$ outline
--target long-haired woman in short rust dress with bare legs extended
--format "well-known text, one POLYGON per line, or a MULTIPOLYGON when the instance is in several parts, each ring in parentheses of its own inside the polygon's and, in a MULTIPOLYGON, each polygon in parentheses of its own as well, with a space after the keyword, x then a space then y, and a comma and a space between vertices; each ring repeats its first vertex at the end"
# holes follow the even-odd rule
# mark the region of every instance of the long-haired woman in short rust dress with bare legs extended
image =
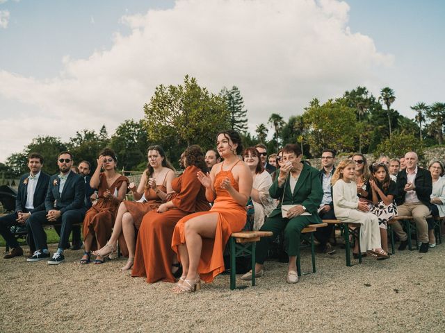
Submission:
POLYGON ((157 209, 162 201, 172 191, 172 179, 175 178, 175 169, 165 157, 161 146, 149 146, 147 150, 148 166, 144 171, 138 189, 133 185, 130 190, 135 200, 145 196, 145 202, 124 200, 119 206, 113 234, 111 238, 95 255, 104 257, 116 250, 119 240, 120 250, 124 257, 128 256, 127 264, 122 267, 125 271, 133 266, 134 248, 136 243, 135 228, 139 229, 143 216, 150 210, 157 209))

